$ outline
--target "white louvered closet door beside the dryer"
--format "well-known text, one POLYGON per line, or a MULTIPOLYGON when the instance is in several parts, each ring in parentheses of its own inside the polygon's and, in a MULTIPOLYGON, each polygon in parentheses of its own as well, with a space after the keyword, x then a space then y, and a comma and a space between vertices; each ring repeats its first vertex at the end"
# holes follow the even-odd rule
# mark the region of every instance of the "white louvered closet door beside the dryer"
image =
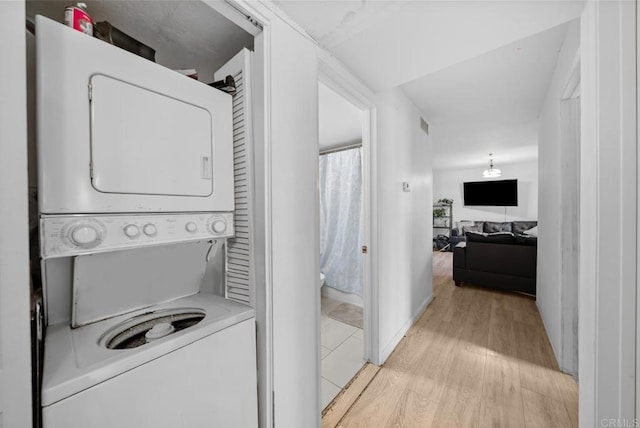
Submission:
POLYGON ((231 75, 236 82, 233 95, 236 236, 227 241, 225 294, 229 299, 255 307, 251 55, 251 51, 243 49, 215 73, 215 79, 231 75))

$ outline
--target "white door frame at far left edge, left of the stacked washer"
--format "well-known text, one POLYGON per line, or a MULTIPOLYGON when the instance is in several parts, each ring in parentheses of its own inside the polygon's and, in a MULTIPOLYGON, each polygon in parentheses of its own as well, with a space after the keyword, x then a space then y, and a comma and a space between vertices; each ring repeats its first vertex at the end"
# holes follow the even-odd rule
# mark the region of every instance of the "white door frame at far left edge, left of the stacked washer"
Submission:
POLYGON ((0 426, 31 427, 25 2, 0 2, 0 426))

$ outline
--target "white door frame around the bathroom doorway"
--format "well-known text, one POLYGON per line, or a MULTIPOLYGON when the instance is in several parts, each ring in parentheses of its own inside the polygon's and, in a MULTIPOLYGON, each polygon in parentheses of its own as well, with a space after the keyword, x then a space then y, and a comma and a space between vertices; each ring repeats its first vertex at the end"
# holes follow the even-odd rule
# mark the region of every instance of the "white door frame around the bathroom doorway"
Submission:
MULTIPOLYGON (((373 94, 346 71, 324 49, 318 48, 318 80, 362 111, 362 298, 364 301, 364 358, 380 364, 378 343, 377 185, 376 185, 376 108, 373 94)), ((318 254, 318 257, 320 255, 318 254)))

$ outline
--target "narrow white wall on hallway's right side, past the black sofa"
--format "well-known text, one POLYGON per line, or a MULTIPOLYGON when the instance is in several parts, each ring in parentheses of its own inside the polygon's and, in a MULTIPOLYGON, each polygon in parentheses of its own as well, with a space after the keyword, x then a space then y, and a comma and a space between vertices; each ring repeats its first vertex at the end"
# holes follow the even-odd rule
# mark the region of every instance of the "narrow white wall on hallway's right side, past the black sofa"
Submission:
MULTIPOLYGON (((580 46, 580 22, 569 24, 556 70, 540 114, 539 216, 537 305, 547 329, 551 346, 559 356, 561 349, 561 275, 562 252, 562 180, 561 98, 580 46)), ((576 189, 577 191, 577 189, 576 189)), ((576 219, 577 220, 577 219, 576 219)))

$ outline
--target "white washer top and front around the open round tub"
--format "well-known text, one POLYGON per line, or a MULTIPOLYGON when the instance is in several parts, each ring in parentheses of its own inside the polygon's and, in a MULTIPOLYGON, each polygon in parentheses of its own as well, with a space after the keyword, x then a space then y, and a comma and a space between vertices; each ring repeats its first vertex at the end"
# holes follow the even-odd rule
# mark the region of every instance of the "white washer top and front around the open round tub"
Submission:
POLYGON ((78 329, 50 327, 45 348, 45 428, 257 427, 253 309, 195 295, 154 310, 206 313, 195 326, 134 349, 100 337, 136 313, 78 329))

